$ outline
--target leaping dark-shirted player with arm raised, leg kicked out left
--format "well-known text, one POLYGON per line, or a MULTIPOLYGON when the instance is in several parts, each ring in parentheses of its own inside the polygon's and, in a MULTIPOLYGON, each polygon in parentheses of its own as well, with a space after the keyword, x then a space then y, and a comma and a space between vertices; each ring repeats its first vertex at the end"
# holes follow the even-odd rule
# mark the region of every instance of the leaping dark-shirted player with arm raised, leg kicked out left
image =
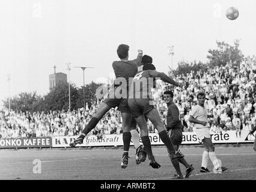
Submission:
MULTIPOLYGON (((128 61, 129 58, 129 46, 126 44, 120 44, 117 49, 117 55, 120 58, 120 61, 114 61, 112 67, 115 72, 115 77, 117 80, 124 78, 126 83, 121 83, 121 85, 115 85, 114 89, 110 89, 108 94, 105 96, 105 100, 100 104, 99 109, 94 114, 93 118, 86 125, 82 134, 76 138, 73 142, 70 143, 71 147, 75 147, 77 144, 81 144, 84 141, 85 136, 96 127, 100 119, 111 109, 112 107, 118 107, 118 110, 121 112, 122 118, 122 128, 123 128, 123 143, 124 143, 124 152, 121 161, 121 168, 126 168, 128 164, 128 152, 131 141, 131 119, 132 115, 130 114, 129 106, 127 104, 127 98, 117 97, 117 94, 120 94, 122 90, 129 89, 129 77, 134 77, 138 71, 138 67, 141 65, 142 59, 142 50, 138 50, 138 56, 132 61, 128 61), (112 98, 112 96, 114 96, 112 98)), ((128 93, 128 91, 127 91, 128 93)), ((122 95, 123 96, 123 95, 122 95)), ((127 95, 124 95, 127 97, 127 95)), ((136 137, 139 139, 139 137, 136 137)), ((135 139, 136 140, 136 139, 135 139)), ((139 141, 138 141, 139 142, 139 141)), ((136 150, 138 152, 138 150, 136 150)), ((137 157, 137 155, 136 155, 137 157)))

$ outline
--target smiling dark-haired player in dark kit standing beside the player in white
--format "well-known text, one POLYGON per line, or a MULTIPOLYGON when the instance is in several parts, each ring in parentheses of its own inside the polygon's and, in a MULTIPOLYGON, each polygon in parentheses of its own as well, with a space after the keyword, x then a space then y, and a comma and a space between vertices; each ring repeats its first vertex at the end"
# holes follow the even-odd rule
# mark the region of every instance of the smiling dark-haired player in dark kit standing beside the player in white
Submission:
MULTIPOLYGON (((182 142, 181 126, 183 125, 181 124, 180 121, 180 111, 178 110, 178 107, 174 104, 173 97, 174 95, 171 91, 163 92, 163 100, 165 101, 168 107, 166 116, 166 128, 175 150, 178 151, 178 147, 181 145, 182 142)), ((185 178, 188 178, 191 175, 192 170, 194 170, 194 167, 192 166, 192 164, 189 165, 187 161, 184 159, 184 157, 180 159, 172 159, 171 155, 169 154, 169 158, 171 159, 172 165, 174 166, 177 172, 177 174, 174 175, 173 179, 183 179, 183 175, 180 170, 180 163, 186 167, 185 178)))

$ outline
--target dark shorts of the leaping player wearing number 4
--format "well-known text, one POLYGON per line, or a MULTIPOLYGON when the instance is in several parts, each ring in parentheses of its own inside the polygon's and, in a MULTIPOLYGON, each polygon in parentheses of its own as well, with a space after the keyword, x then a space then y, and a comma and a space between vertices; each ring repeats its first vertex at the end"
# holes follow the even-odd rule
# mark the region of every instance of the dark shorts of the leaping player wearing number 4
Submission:
POLYGON ((130 112, 132 112, 132 115, 135 117, 145 115, 155 108, 153 100, 150 100, 149 98, 129 98, 128 105, 130 112))

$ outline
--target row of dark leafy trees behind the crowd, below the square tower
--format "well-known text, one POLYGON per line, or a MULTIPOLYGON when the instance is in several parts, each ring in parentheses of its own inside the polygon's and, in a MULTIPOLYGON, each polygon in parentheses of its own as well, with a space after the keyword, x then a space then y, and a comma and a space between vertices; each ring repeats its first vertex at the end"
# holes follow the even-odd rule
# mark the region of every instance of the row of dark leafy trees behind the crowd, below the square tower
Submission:
MULTIPOLYGON (((88 102, 89 107, 96 98, 96 89, 99 84, 91 82, 85 85, 85 103, 88 102)), ((8 109, 8 98, 3 100, 5 108, 8 109)), ((84 107, 84 91, 83 86, 78 89, 75 84, 70 84, 70 107, 71 110, 84 107)), ((49 110, 68 110, 69 109, 69 84, 67 82, 58 82, 49 93, 41 97, 36 92, 22 92, 11 98, 11 110, 41 112, 49 110)))

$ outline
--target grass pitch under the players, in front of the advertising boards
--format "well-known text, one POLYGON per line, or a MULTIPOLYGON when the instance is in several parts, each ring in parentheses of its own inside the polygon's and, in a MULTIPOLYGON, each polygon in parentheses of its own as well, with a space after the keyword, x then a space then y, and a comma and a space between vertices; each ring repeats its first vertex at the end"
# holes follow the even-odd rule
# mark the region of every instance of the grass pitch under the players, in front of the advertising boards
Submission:
MULTIPOLYGON (((240 147, 215 145, 217 158, 228 170, 222 174, 201 173, 201 146, 181 146, 187 163, 193 164, 194 171, 183 180, 255 180, 256 152, 252 145, 240 147)), ((161 165, 159 169, 149 166, 148 159, 139 165, 135 163, 135 149, 130 146, 129 164, 121 169, 122 148, 67 148, 67 149, 2 149, 0 150, 0 179, 26 180, 169 180, 175 174, 165 146, 153 146, 153 154, 161 165), (41 161, 41 173, 34 173, 34 160, 41 161)), ((38 161, 37 161, 38 162, 38 161)), ((181 171, 185 175, 185 168, 181 171)))

